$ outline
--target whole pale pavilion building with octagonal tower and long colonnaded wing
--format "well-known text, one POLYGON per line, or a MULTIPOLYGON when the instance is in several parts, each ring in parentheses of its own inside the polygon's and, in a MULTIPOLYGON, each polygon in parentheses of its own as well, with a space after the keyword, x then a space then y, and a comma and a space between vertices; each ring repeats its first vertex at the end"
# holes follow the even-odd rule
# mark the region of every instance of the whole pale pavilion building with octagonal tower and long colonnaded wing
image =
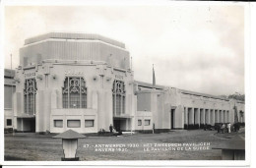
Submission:
POLYGON ((25 40, 5 70, 5 128, 79 133, 198 129, 244 122, 244 102, 134 81, 125 44, 101 35, 50 32, 25 40), (13 93, 12 93, 13 92, 13 93), (236 111, 236 112, 235 112, 236 111))

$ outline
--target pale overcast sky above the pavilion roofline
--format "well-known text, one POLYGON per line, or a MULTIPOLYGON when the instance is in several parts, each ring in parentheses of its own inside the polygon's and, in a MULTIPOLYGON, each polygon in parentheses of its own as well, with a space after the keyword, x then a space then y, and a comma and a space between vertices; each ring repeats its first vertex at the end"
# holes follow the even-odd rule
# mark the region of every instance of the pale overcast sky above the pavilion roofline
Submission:
POLYGON ((98 33, 126 44, 135 80, 210 93, 244 93, 242 6, 6 7, 5 67, 19 65, 28 37, 49 31, 98 33))

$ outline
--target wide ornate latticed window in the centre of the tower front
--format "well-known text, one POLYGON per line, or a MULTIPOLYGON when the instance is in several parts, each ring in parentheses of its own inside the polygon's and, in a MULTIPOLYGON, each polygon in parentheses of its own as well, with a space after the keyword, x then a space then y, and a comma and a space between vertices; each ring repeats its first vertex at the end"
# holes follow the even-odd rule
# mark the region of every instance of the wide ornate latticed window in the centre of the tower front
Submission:
POLYGON ((63 108, 87 108, 87 87, 83 78, 65 79, 62 102, 63 108))

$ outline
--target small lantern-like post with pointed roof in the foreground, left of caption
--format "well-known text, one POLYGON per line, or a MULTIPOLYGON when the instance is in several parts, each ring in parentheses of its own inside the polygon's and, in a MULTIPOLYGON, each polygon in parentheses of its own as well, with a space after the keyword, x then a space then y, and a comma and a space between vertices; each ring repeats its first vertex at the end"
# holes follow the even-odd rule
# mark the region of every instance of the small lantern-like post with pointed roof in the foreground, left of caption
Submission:
POLYGON ((86 136, 81 135, 73 130, 68 130, 60 135, 53 137, 53 139, 62 139, 64 157, 61 157, 61 161, 79 161, 79 157, 76 157, 78 139, 85 138, 86 136))

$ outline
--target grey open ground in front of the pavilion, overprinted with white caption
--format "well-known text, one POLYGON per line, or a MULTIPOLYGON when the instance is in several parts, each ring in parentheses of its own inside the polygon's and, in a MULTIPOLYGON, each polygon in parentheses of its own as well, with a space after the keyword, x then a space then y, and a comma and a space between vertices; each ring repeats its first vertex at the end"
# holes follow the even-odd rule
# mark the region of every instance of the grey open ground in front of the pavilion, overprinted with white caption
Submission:
MULTIPOLYGON (((78 143, 77 156, 85 160, 220 160, 212 149, 232 136, 216 131, 172 131, 161 134, 126 134, 120 137, 87 137, 78 143), (196 144, 196 145, 194 145, 196 144), (181 147, 180 147, 181 146, 181 147), (189 146, 193 146, 189 149, 189 146), (182 148, 183 147, 183 148, 182 148)), ((5 135, 5 160, 60 161, 62 141, 32 133, 5 135)))

